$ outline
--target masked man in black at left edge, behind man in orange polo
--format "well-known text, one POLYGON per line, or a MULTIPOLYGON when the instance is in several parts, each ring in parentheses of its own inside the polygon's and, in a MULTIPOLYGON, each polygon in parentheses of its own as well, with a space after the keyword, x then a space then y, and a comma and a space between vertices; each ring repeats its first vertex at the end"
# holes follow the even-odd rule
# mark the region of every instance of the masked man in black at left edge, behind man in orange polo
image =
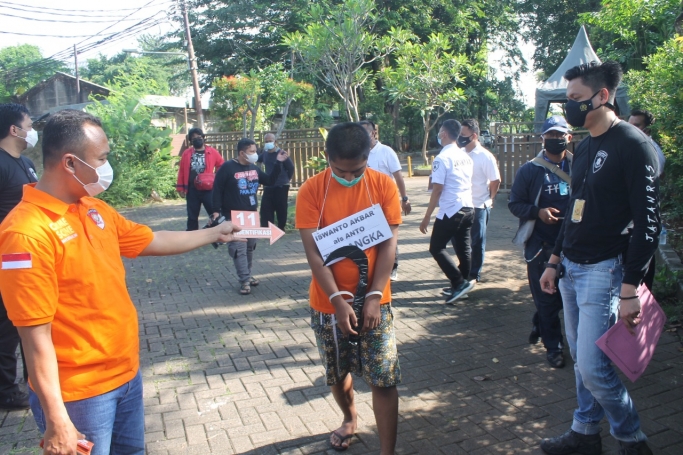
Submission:
MULTIPOLYGON (((21 156, 38 142, 28 109, 21 104, 0 104, 0 223, 21 201, 24 185, 38 181, 33 162, 21 156)), ((0 227, 0 229, 2 229, 0 227)), ((28 409, 28 393, 17 384, 19 333, 7 318, 0 296, 0 409, 28 409)), ((27 373, 24 366, 24 378, 27 373)))

